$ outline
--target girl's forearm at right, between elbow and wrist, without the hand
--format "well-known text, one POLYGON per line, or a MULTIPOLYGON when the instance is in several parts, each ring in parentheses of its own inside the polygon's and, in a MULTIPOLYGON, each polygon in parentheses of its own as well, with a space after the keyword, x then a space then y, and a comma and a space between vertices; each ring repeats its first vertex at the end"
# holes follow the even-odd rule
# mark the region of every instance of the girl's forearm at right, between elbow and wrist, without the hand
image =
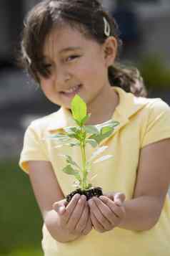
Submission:
POLYGON ((148 230, 154 227, 161 212, 161 203, 154 196, 140 196, 124 202, 126 217, 119 227, 148 230))

